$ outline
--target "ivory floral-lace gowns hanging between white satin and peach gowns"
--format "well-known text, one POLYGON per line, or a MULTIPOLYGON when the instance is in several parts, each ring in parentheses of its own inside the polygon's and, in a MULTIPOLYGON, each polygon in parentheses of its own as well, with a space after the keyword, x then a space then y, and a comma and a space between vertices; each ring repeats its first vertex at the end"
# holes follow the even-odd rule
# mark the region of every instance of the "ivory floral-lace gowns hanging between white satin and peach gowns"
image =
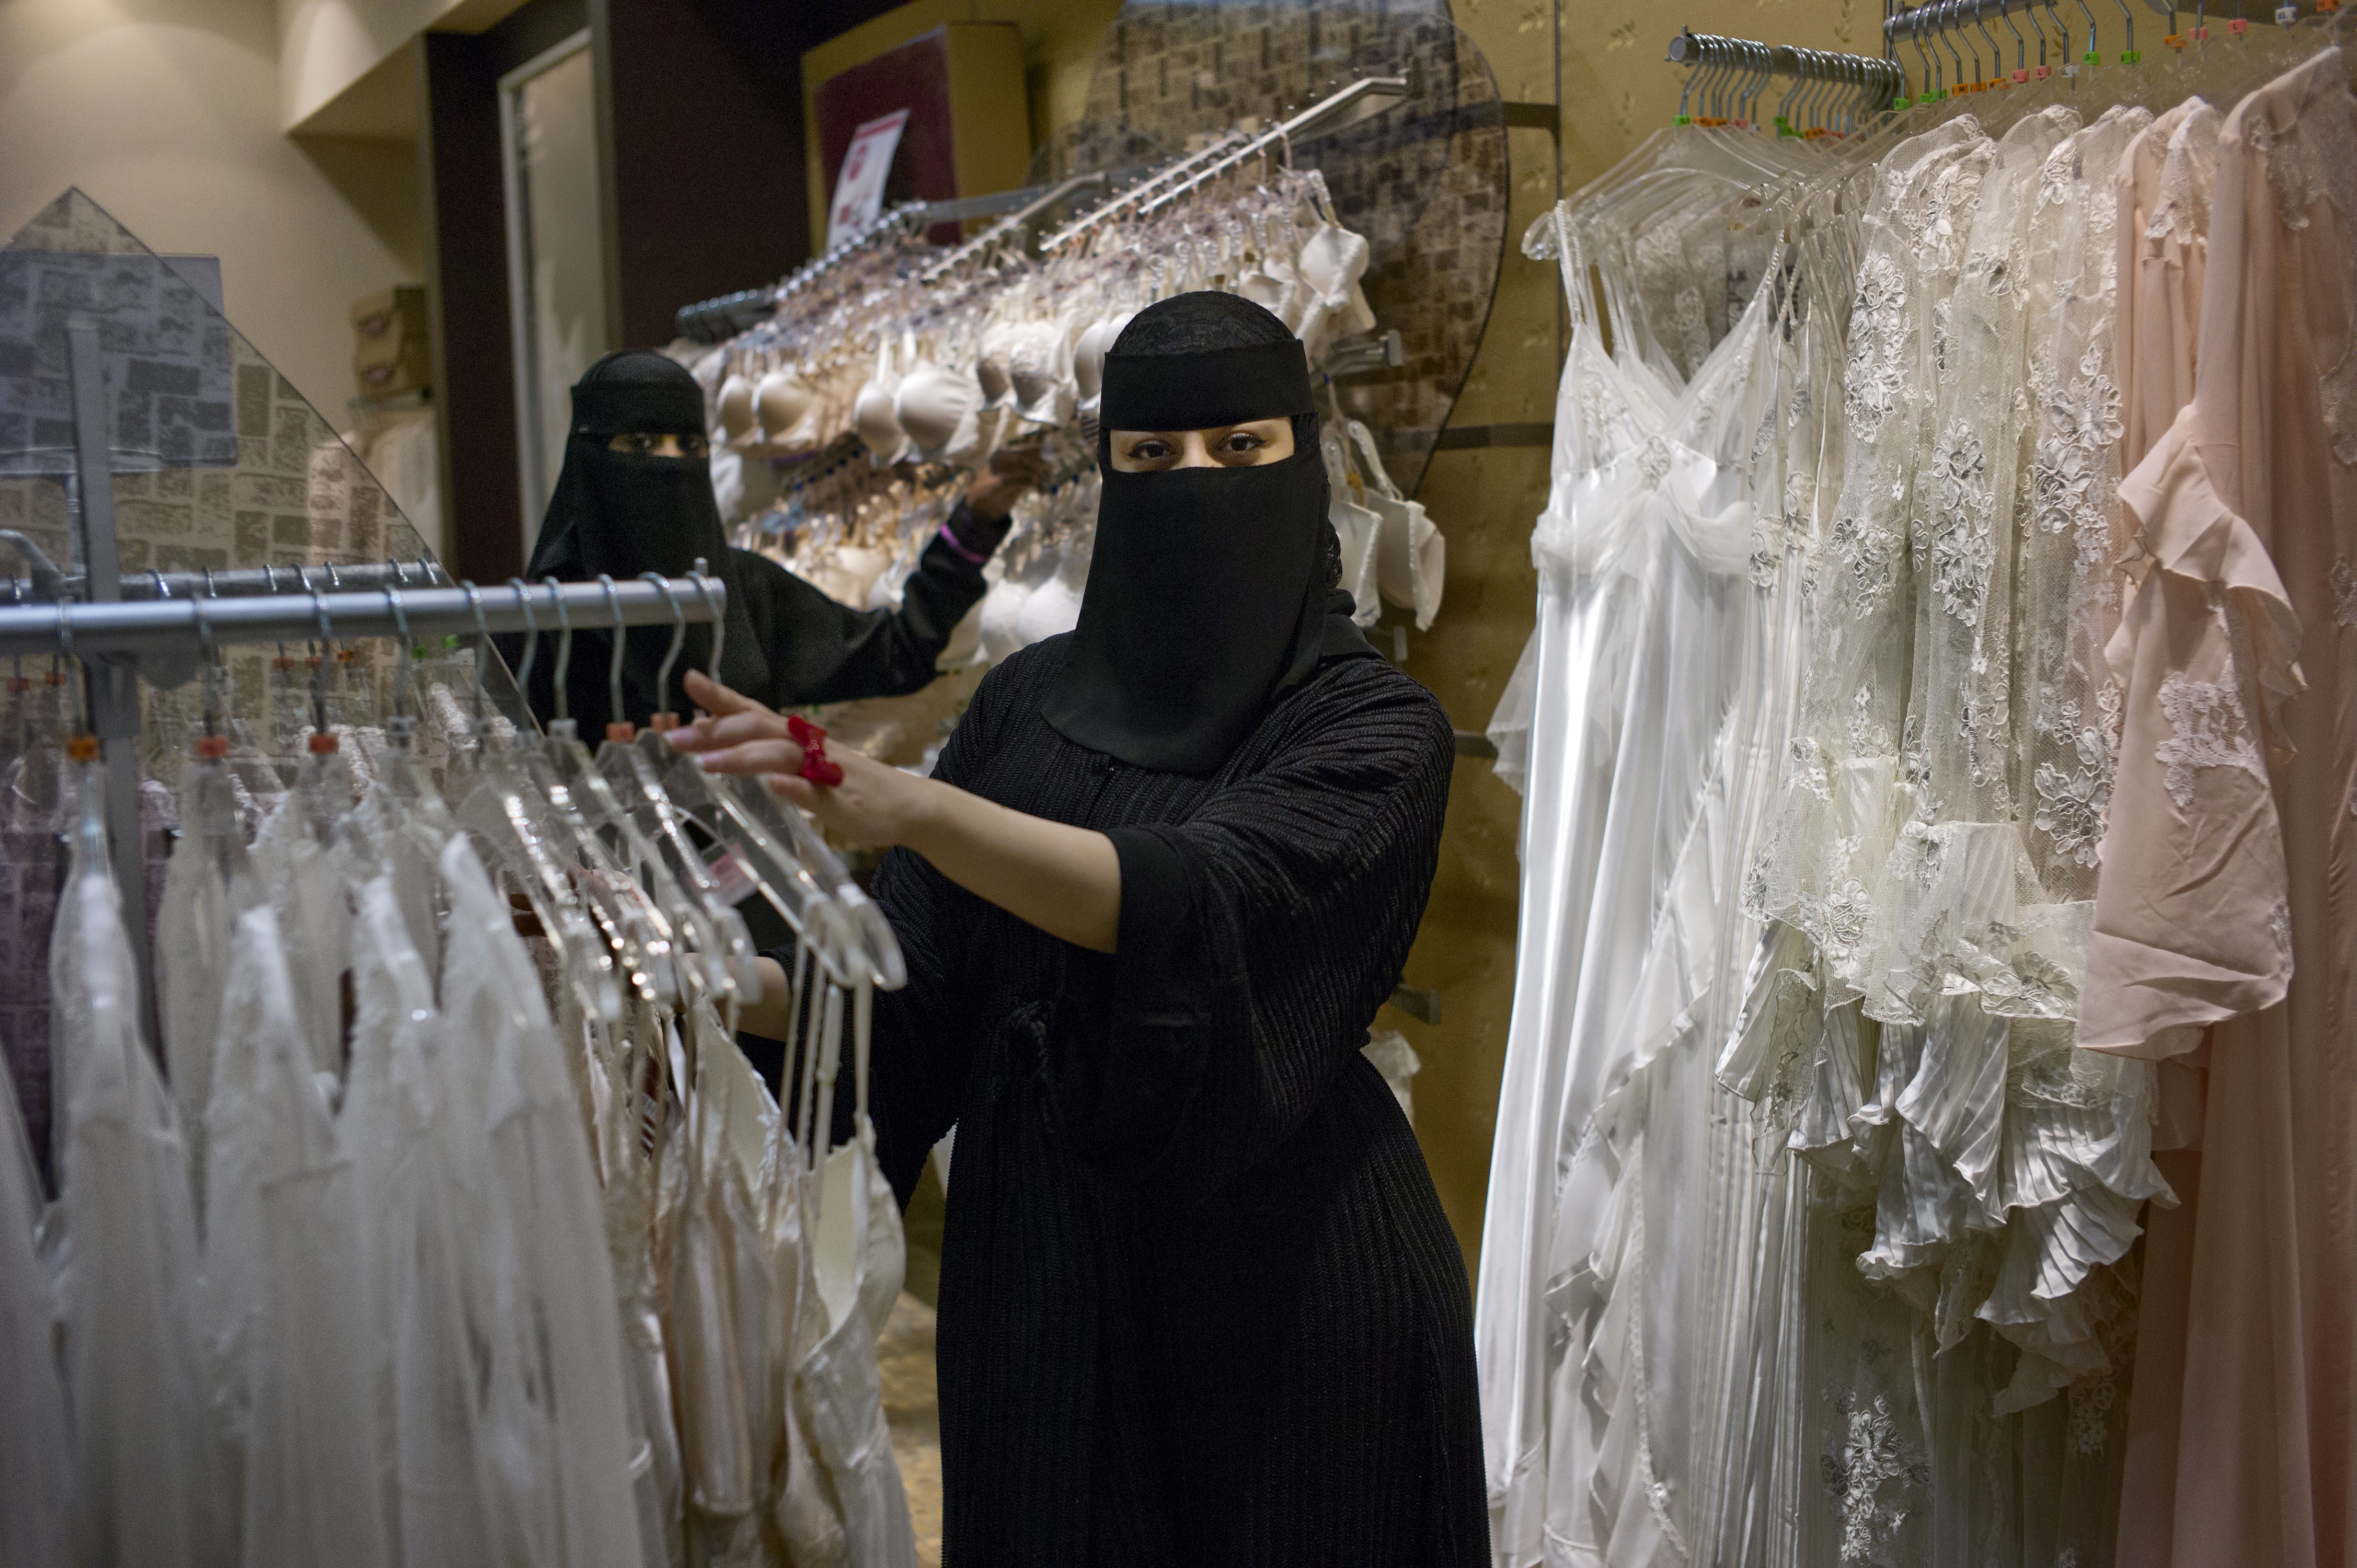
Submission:
POLYGON ((2150 1080, 2069 1030, 2114 745, 2110 170, 2140 123, 1989 144, 1959 118, 1893 149, 1864 215, 1843 493, 1751 889, 1787 924, 1721 1063, 1805 1158, 1754 1309, 1789 1422, 1758 1502, 1794 1561, 2110 1554, 2114 1264, 2166 1188, 2150 1080))

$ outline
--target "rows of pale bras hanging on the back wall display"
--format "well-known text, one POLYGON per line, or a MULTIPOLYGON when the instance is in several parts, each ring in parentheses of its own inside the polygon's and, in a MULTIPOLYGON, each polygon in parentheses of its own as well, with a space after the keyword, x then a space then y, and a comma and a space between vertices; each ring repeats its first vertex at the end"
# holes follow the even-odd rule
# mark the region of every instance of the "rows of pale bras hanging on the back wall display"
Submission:
MULTIPOLYGON (((1384 80, 1327 104, 1346 111, 1374 87, 1384 80)), ((1320 373, 1376 332, 1360 290, 1367 241, 1315 170, 1282 163, 1325 108, 1285 130, 1228 132, 1049 233, 1039 257, 1028 224, 1044 200, 950 252, 889 217, 877 231, 893 243, 813 264, 780 285, 768 321, 686 349, 733 542, 856 608, 898 606, 957 505, 957 474, 1002 448, 1039 450, 1049 481, 1016 505, 985 566, 990 594, 943 667, 1072 630, 1096 519, 1103 358, 1141 307, 1202 288, 1244 295, 1294 328, 1320 373)), ((1332 382, 1320 384, 1332 401, 1332 382)), ((1329 413, 1332 514, 1358 618, 1374 625, 1388 601, 1426 630, 1445 540, 1391 483, 1374 434, 1329 413)))

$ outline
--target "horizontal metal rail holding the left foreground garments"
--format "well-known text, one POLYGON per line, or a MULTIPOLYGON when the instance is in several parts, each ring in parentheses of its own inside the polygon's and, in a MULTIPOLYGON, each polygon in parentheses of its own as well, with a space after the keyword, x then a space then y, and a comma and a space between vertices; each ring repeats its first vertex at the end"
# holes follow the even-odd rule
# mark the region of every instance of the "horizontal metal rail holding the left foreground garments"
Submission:
POLYGON ((0 608, 0 658, 68 653, 193 667, 207 644, 599 632, 709 625, 726 613, 728 589, 719 578, 26 604, 0 608))

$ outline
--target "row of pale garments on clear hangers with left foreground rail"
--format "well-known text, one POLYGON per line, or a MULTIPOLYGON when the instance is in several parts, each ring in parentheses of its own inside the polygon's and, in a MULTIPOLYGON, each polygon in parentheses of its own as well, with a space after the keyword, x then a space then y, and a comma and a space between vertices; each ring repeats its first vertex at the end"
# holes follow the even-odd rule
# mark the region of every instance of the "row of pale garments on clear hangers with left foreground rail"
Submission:
POLYGON ((177 785, 144 785, 160 889, 113 875, 68 681, 0 757, 68 842, 54 924, 12 931, 47 948, 57 1200, 9 1094, 0 1559, 915 1561, 874 1365, 898 1210, 870 1141, 813 1132, 846 1033, 865 1127, 898 948, 667 719, 589 752, 488 684, 493 632, 566 660, 599 625, 618 667, 625 627, 667 625, 669 663, 691 620, 719 630, 712 578, 0 611, 0 653, 200 672, 177 785), (304 632, 278 773, 226 644, 304 632), (160 905, 153 986, 125 896, 160 905), (750 896, 801 938, 785 1108, 733 1042, 750 896))

